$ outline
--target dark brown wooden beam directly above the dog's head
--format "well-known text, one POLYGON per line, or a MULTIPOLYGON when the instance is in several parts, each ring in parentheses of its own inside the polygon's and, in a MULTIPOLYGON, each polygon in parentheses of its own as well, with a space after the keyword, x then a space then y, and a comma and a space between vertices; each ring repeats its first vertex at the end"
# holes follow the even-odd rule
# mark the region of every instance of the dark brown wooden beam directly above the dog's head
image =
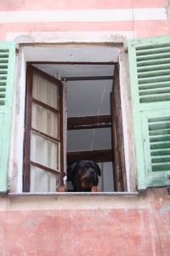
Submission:
POLYGON ((111 149, 79 151, 67 153, 67 164, 77 162, 78 160, 94 160, 95 162, 111 162, 113 161, 111 149))

